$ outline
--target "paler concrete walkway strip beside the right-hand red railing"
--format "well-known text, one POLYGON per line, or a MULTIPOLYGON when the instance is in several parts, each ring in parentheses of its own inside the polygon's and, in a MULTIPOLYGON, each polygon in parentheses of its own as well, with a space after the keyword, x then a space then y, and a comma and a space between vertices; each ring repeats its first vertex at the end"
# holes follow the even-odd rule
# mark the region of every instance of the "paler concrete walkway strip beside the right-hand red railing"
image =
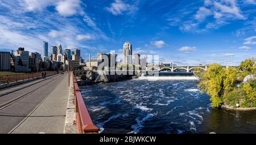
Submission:
POLYGON ((9 133, 63 134, 69 97, 68 75, 9 133))

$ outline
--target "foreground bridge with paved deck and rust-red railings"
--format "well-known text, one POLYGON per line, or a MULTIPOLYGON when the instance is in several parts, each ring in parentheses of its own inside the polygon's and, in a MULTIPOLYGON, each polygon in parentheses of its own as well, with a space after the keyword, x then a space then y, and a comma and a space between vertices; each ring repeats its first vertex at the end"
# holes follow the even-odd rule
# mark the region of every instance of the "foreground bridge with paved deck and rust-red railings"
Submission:
MULTIPOLYGON (((14 79, 24 83, 0 89, 0 134, 98 133, 73 73, 35 76, 30 82, 14 79)), ((7 84, 13 81, 2 78, 7 84)))

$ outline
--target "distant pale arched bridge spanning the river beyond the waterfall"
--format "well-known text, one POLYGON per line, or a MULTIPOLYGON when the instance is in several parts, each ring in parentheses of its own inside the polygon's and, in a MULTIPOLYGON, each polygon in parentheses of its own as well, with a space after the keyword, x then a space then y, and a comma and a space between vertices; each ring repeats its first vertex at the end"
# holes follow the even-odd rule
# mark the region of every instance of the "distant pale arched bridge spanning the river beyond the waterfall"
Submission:
POLYGON ((190 72, 194 69, 202 69, 204 71, 207 71, 208 66, 160 66, 160 67, 146 67, 146 71, 171 71, 175 72, 177 70, 184 70, 187 72, 190 72))

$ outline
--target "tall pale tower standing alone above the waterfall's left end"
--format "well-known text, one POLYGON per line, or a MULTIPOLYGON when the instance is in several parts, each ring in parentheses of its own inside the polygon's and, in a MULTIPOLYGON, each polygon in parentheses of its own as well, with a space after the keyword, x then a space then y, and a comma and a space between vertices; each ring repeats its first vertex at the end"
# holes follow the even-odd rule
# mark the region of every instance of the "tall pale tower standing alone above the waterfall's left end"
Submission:
POLYGON ((133 65, 133 46, 130 42, 123 44, 123 63, 133 65))

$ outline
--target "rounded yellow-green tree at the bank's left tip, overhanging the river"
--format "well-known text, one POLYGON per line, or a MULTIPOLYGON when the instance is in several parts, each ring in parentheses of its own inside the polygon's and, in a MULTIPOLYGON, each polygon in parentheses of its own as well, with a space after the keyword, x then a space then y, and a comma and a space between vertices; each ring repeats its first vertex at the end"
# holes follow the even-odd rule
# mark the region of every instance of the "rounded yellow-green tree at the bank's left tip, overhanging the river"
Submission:
POLYGON ((224 93, 224 79, 225 70, 221 65, 214 63, 208 67, 199 84, 201 92, 210 96, 213 107, 220 108, 223 103, 221 97, 224 93))

